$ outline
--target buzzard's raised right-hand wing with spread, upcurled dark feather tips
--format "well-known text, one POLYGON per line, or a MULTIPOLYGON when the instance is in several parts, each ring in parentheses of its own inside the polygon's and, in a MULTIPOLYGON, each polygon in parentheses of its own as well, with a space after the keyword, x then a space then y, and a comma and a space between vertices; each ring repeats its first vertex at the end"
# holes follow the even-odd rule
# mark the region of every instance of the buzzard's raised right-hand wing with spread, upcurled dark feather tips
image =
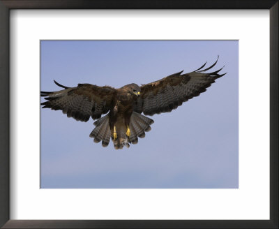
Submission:
POLYGON ((217 61, 209 68, 203 69, 206 65, 205 63, 191 73, 181 74, 183 72, 181 71, 164 77, 162 80, 142 85, 140 98, 137 99, 134 105, 135 112, 144 112, 146 115, 170 112, 190 98, 199 96, 216 79, 225 75, 218 74, 223 68, 211 73, 205 73, 213 68, 217 61))

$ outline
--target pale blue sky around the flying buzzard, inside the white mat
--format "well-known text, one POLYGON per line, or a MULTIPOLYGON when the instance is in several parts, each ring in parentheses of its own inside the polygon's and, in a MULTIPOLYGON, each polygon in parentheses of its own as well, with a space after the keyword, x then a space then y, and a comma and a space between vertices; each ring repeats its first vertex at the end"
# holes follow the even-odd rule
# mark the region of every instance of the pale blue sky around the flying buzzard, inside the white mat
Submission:
POLYGON ((41 90, 60 90, 53 80, 68 87, 146 84, 209 66, 218 54, 213 71, 225 65, 227 75, 176 110, 154 114, 151 131, 129 149, 93 142, 93 119, 41 109, 41 188, 237 189, 238 41, 44 40, 41 90))

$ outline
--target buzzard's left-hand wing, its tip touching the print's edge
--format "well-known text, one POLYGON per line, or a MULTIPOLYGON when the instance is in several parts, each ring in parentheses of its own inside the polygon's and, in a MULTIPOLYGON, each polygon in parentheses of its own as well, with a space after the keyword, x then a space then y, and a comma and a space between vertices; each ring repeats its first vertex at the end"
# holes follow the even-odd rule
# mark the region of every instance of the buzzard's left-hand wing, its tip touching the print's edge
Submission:
POLYGON ((101 114, 107 113, 116 94, 112 87, 98 87, 92 84, 78 84, 77 87, 65 87, 54 80, 55 84, 64 89, 61 91, 40 91, 40 96, 47 100, 43 108, 62 110, 67 117, 78 121, 99 119, 101 114))

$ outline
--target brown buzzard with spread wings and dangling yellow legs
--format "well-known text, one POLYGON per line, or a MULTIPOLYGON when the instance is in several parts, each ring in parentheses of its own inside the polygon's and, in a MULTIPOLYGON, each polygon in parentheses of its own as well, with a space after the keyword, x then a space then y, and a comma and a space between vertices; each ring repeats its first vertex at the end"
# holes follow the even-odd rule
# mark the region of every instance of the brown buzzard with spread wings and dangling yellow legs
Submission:
POLYGON ((90 133, 94 142, 102 141, 107 147, 112 138, 115 149, 130 147, 139 138, 144 138, 145 132, 150 131, 153 120, 142 115, 171 112, 190 98, 199 96, 213 82, 225 74, 218 71, 206 73, 217 64, 218 59, 209 68, 206 63, 197 70, 182 74, 174 73, 161 80, 149 84, 127 84, 119 89, 110 86, 99 87, 93 84, 78 84, 77 87, 66 87, 54 80, 63 89, 61 91, 40 91, 45 97, 41 103, 43 108, 62 110, 67 117, 77 121, 98 119, 90 133), (108 112, 108 114, 106 114, 108 112), (106 114, 101 117, 102 114, 106 114))

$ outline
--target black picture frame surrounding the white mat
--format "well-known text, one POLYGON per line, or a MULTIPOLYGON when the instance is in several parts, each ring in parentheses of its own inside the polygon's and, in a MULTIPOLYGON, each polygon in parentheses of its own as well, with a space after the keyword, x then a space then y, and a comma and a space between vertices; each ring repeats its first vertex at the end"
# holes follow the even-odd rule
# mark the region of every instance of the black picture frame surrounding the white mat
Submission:
POLYGON ((0 0, 0 226, 2 228, 278 228, 278 6, 278 0, 0 0), (9 14, 11 9, 268 9, 270 11, 270 220, 10 220, 9 14))

